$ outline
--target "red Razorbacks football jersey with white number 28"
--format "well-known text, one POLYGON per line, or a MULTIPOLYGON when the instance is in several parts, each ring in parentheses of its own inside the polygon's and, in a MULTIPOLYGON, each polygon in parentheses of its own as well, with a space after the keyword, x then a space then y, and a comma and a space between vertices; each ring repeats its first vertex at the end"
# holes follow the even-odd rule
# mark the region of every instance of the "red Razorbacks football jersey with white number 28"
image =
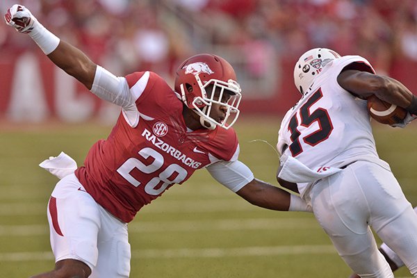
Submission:
POLYGON ((144 74, 126 76, 132 94, 138 95, 138 124, 132 127, 120 113, 107 140, 96 142, 75 172, 96 202, 124 222, 213 159, 229 161, 238 147, 233 129, 187 132, 182 101, 153 72, 145 89, 138 89, 144 74))

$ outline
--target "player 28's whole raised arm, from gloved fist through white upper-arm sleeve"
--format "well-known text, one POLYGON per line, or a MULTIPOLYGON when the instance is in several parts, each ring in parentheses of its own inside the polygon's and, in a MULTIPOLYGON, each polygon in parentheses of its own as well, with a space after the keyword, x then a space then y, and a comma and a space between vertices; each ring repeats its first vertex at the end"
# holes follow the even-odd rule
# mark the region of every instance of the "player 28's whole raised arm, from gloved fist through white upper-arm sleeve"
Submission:
POLYGON ((135 99, 131 95, 129 85, 124 77, 117 77, 103 67, 99 67, 81 50, 60 40, 47 28, 44 28, 24 6, 13 5, 8 9, 4 19, 18 32, 28 33, 55 65, 67 74, 74 76, 97 97, 122 106, 124 111, 133 111, 126 117, 131 126, 137 124, 138 114, 135 113, 135 99))

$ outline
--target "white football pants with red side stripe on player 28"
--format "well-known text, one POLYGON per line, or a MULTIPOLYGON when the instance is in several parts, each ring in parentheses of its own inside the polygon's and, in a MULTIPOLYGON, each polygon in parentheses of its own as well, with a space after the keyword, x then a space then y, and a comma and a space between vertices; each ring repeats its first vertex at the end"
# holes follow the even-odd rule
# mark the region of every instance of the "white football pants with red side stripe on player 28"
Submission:
POLYGON ((56 184, 48 221, 55 261, 82 261, 92 270, 90 278, 129 277, 127 224, 97 204, 75 174, 56 184))

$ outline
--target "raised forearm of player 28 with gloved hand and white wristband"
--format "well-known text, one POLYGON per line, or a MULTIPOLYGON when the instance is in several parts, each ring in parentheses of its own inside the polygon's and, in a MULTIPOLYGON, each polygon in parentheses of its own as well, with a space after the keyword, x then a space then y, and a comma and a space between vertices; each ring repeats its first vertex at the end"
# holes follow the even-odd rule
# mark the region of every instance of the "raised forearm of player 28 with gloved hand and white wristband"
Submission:
POLYGON ((91 90, 97 65, 81 50, 60 40, 44 28, 22 5, 13 5, 8 9, 4 19, 20 33, 28 33, 55 65, 91 90))

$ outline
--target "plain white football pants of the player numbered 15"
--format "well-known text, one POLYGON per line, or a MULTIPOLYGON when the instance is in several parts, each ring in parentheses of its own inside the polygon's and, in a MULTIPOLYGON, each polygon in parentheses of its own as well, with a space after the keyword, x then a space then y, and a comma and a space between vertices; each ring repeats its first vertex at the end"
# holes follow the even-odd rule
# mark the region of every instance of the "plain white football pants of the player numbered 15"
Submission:
POLYGON ((314 215, 361 277, 394 277, 370 227, 417 277, 417 215, 392 172, 358 161, 311 190, 314 215))

